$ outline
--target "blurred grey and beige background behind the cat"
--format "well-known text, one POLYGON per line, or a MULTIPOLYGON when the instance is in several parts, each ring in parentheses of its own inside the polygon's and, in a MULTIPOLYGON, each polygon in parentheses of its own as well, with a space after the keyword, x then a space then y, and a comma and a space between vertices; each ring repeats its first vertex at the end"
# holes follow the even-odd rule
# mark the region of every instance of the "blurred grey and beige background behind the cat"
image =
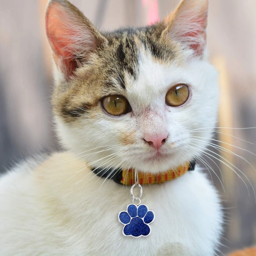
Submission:
MULTIPOLYGON (((101 30, 146 25, 152 6, 163 19, 178 2, 73 0, 101 30)), ((46 4, 0 0, 0 172, 35 152, 58 150, 50 105, 51 53, 44 33, 46 4)), ((210 3, 208 47, 220 71, 218 126, 239 128, 216 129, 212 143, 223 148, 209 148, 215 163, 207 155, 202 164, 223 200, 226 225, 220 255, 256 244, 256 129, 241 129, 256 126, 255 8, 255 0, 210 3)))

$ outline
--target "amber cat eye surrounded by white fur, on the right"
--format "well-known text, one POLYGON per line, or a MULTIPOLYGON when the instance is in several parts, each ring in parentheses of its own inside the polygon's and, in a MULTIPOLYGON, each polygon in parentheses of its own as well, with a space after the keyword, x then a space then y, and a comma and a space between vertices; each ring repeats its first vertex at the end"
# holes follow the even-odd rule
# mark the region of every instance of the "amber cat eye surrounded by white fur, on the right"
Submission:
POLYGON ((186 84, 173 86, 166 94, 165 100, 169 106, 178 107, 188 100, 189 89, 186 84))

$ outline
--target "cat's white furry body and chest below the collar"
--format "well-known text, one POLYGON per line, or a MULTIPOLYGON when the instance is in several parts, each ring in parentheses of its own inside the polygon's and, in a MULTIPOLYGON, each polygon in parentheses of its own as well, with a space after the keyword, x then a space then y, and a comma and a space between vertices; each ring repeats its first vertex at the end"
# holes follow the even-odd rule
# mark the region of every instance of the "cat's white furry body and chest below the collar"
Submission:
POLYGON ((79 160, 58 153, 36 169, 22 164, 2 177, 1 256, 214 255, 220 200, 198 169, 143 188, 142 202, 156 220, 149 237, 136 239, 124 237, 117 220, 131 203, 130 188, 113 181, 101 187, 103 179, 79 160))

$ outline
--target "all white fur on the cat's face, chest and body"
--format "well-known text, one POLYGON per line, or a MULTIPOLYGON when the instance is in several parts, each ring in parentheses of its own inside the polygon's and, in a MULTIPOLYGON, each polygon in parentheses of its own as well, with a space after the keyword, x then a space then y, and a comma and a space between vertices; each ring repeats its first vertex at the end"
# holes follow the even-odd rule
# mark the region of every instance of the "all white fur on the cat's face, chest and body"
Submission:
MULTIPOLYGON (((87 167, 163 172, 200 157, 211 139, 218 76, 206 60, 184 50, 179 60, 164 64, 141 49, 138 70, 136 81, 125 76, 124 96, 132 114, 114 117, 101 109, 95 118, 81 116, 79 124, 56 117, 70 151, 24 162, 0 179, 1 256, 216 255, 222 231, 220 199, 198 166, 176 180, 143 187, 142 203, 156 219, 151 235, 138 239, 124 237, 117 219, 131 203, 130 187, 104 182, 87 167), (181 83, 189 86, 188 102, 167 106, 166 93, 181 83), (169 133, 161 148, 166 156, 157 158, 142 138, 163 131, 169 133), (135 142, 124 145, 122 133, 132 134, 135 142)), ((61 82, 60 74, 55 77, 61 82)))

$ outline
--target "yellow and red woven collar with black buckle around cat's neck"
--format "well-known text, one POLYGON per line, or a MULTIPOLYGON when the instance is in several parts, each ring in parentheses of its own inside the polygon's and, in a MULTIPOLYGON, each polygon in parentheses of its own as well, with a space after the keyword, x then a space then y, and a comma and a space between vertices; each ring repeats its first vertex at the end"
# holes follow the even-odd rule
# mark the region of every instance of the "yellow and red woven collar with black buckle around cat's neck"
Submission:
MULTIPOLYGON (((139 183, 140 185, 147 185, 147 184, 161 184, 168 180, 175 180, 178 177, 184 175, 188 171, 195 170, 196 161, 193 160, 190 163, 186 163, 178 168, 171 169, 167 172, 161 173, 145 173, 145 172, 138 172, 139 183)), ((135 183, 134 180, 134 170, 129 169, 115 169, 110 168, 105 170, 106 168, 91 168, 92 172, 94 172, 97 176, 107 179, 112 179, 118 184, 121 185, 133 185, 135 183), (113 174, 114 173, 114 174, 113 174)))

